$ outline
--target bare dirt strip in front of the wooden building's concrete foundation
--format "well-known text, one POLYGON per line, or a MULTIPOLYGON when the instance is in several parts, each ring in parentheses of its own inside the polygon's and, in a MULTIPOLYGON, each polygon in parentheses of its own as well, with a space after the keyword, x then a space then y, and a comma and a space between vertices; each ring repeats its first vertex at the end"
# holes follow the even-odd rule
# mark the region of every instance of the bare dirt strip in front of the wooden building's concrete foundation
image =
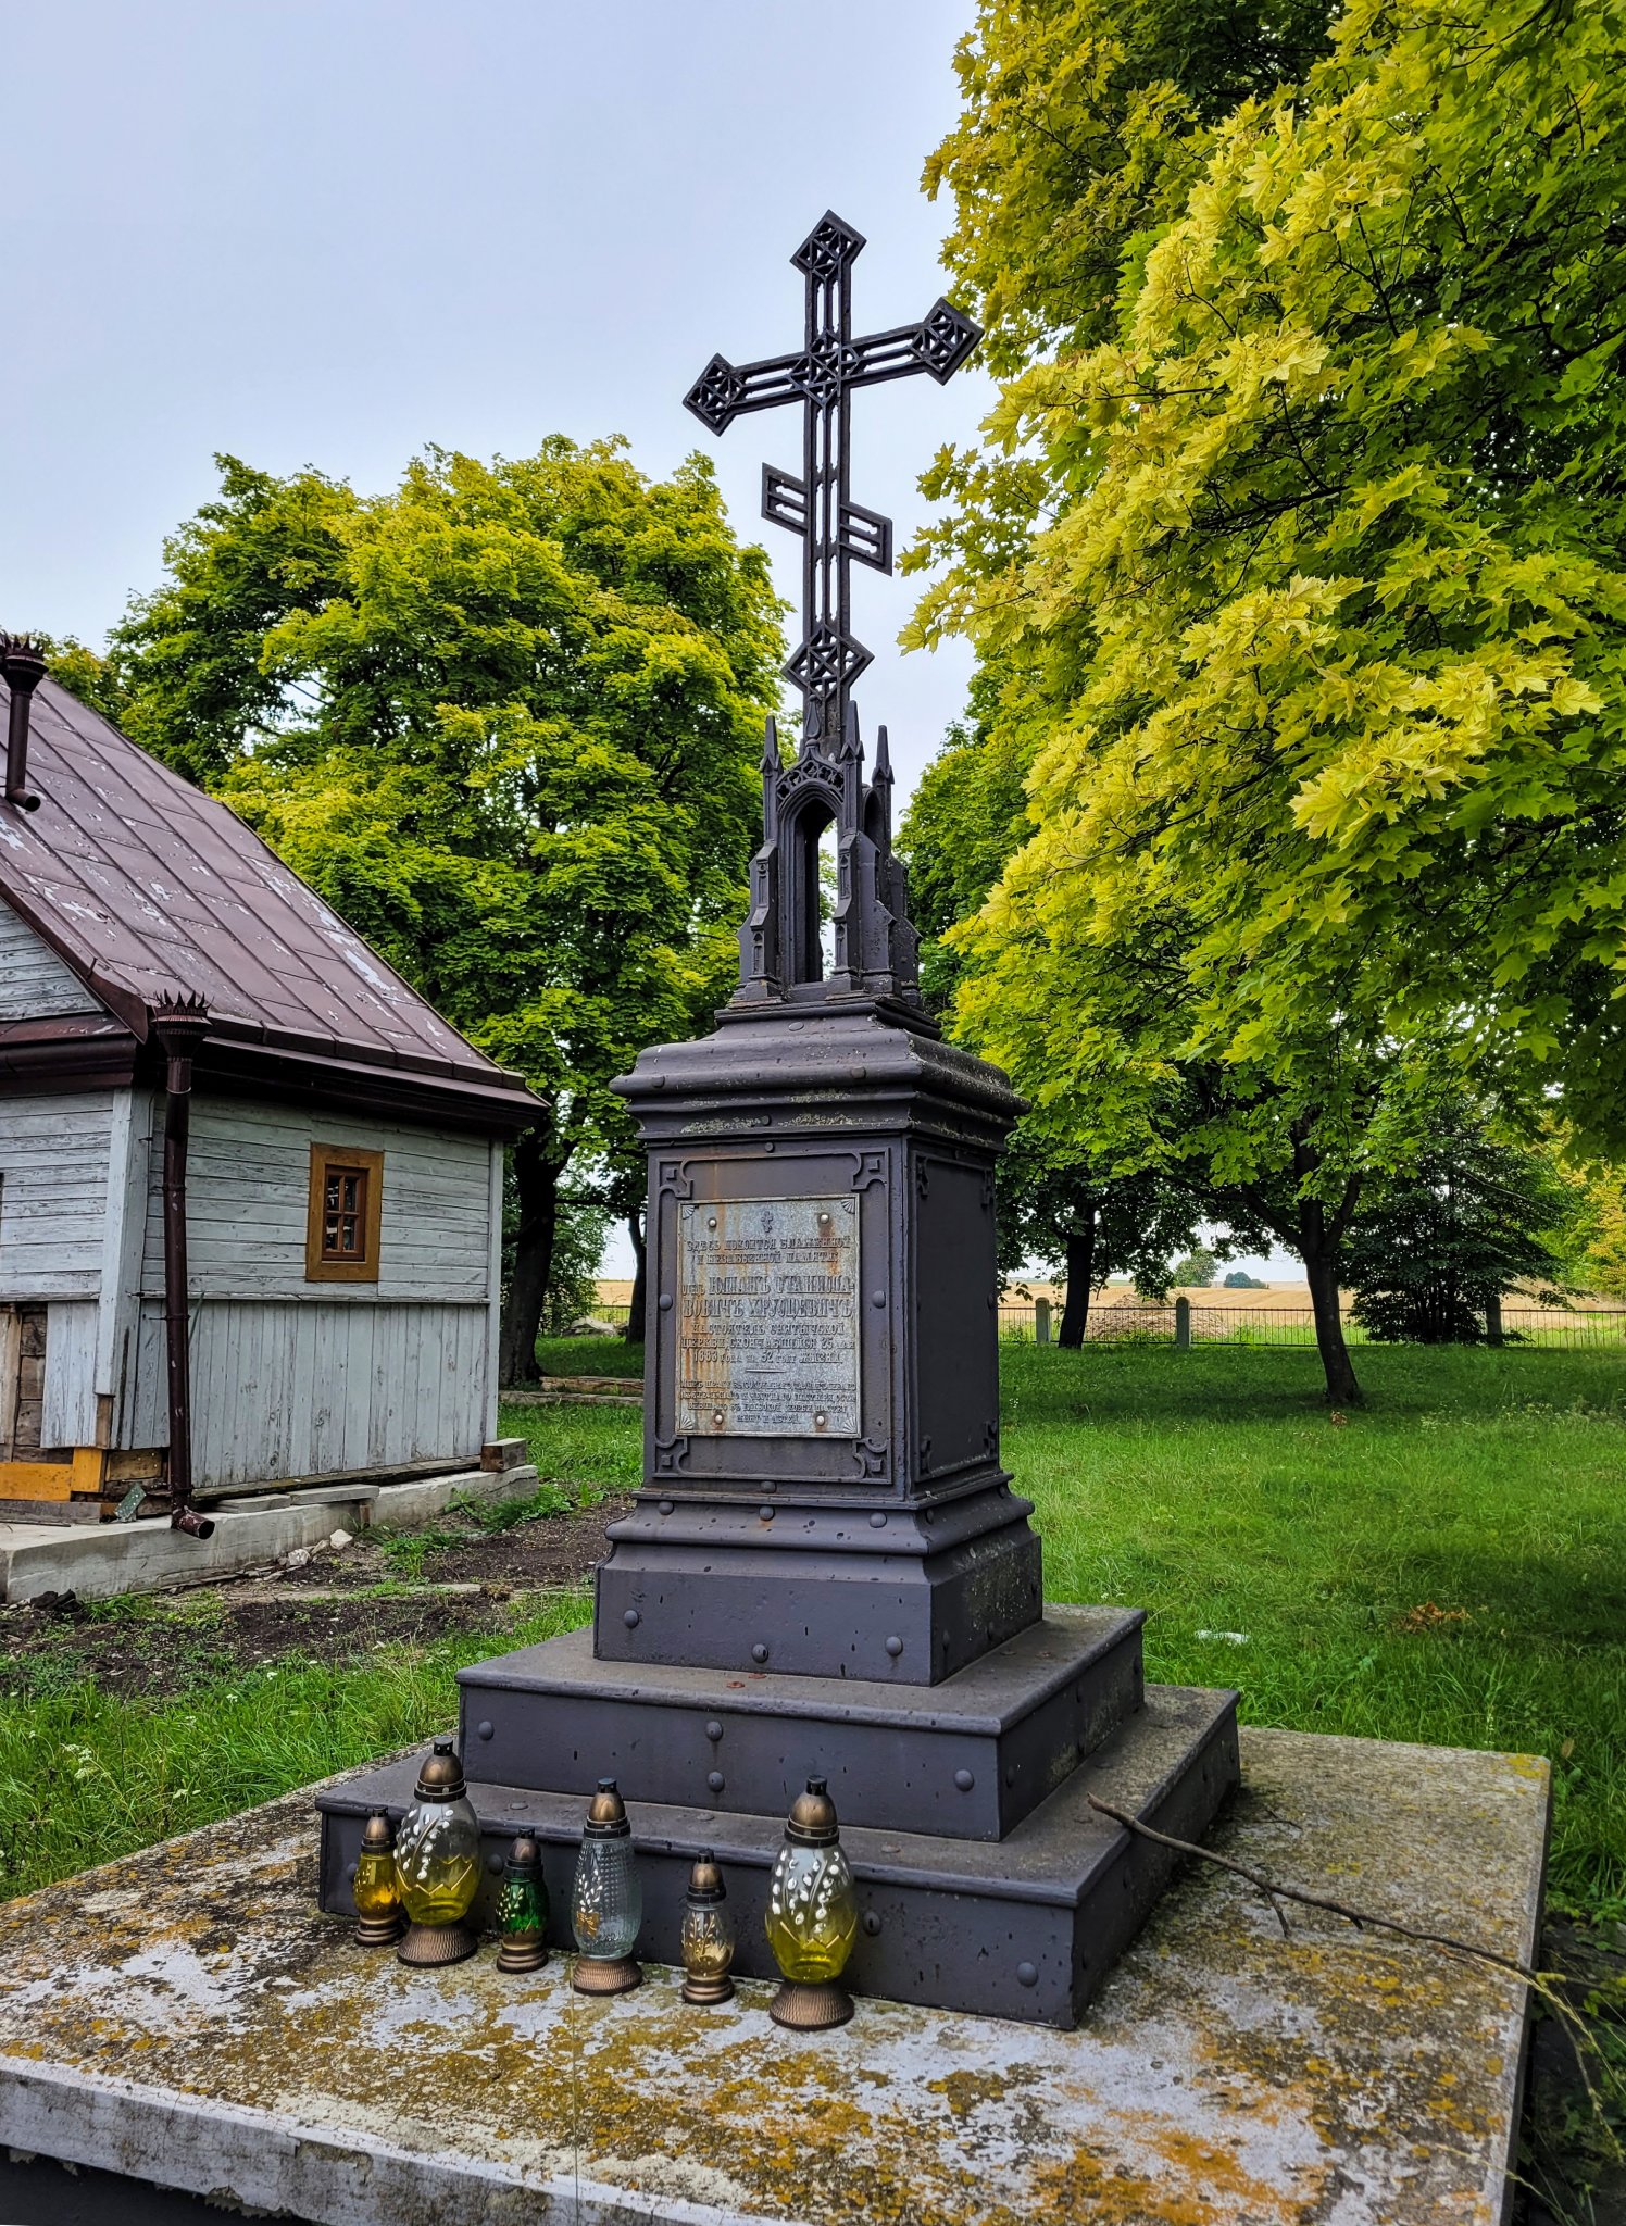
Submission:
POLYGON ((96 1605, 71 1594, 47 1607, 0 1605, 0 1694, 47 1698, 94 1681, 118 1696, 167 1698, 278 1661, 354 1663, 390 1645, 501 1636, 523 1594, 590 1583, 606 1554, 604 1525, 626 1507, 604 1500, 497 1531, 441 1516, 417 1536, 359 1538, 298 1569, 225 1585, 96 1605), (448 1583, 479 1592, 417 1589, 448 1583))

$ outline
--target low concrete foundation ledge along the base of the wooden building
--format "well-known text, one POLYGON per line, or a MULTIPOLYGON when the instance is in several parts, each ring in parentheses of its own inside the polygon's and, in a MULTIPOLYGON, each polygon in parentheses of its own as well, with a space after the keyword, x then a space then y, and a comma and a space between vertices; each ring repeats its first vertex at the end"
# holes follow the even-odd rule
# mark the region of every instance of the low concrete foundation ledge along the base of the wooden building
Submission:
POLYGON ((238 1569, 261 1569, 336 1529, 417 1529, 457 1498, 517 1500, 537 1489, 535 1467, 463 1469, 403 1485, 325 1485, 312 1494, 263 1494, 256 1505, 212 1507, 214 1536, 187 1538, 165 1518, 143 1523, 0 1523, 0 1598, 38 1600, 71 1592, 111 1600, 125 1592, 172 1592, 238 1569))

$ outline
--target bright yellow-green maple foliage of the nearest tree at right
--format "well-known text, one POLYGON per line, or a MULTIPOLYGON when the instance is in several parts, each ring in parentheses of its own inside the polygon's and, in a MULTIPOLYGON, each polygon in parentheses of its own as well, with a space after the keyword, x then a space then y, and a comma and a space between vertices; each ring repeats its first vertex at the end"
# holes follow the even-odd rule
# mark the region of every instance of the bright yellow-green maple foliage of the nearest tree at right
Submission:
POLYGON ((1356 0, 1301 89, 1189 127, 1109 336, 1007 327, 1016 476, 940 467, 918 634, 969 630, 1034 750, 958 930, 1025 1084, 1114 1042, 1290 1084, 1330 1022, 1426 1024, 1622 1133, 1624 69, 1615 0, 1356 0))

